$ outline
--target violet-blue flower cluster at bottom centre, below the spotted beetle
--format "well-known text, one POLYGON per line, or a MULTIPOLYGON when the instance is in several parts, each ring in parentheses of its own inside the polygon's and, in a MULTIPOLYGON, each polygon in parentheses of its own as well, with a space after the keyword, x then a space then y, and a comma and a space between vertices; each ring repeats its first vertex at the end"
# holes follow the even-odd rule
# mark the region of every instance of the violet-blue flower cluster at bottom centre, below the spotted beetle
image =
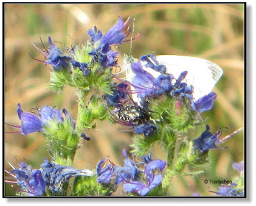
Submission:
POLYGON ((166 166, 165 161, 161 159, 153 161, 151 154, 149 154, 146 157, 141 157, 143 161, 138 166, 127 156, 125 150, 123 150, 123 155, 125 158, 124 167, 116 166, 108 159, 102 159, 97 164, 97 181, 100 184, 109 184, 115 178, 115 185, 119 185, 122 182, 127 192, 138 193, 144 196, 161 183, 162 175, 161 173, 157 174, 156 170, 162 171, 166 166), (108 161, 110 164, 104 165, 108 161))

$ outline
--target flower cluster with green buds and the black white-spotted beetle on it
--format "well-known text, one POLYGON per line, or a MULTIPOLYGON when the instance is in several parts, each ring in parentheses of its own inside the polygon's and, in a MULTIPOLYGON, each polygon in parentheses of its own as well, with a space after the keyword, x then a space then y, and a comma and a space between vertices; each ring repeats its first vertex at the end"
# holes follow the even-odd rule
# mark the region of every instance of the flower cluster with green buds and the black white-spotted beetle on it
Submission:
POLYGON ((152 136, 159 122, 172 122, 170 129, 180 131, 193 125, 197 116, 211 109, 216 99, 216 93, 211 92, 195 100, 193 85, 186 83, 186 75, 188 72, 183 71, 175 79, 167 72, 166 65, 159 63, 152 54, 141 56, 140 61, 133 58, 126 80, 105 99, 108 105, 115 107, 116 122, 132 127, 136 134, 152 136), (124 92, 131 94, 132 99, 124 92), (132 103, 127 104, 131 100, 132 103), (152 117, 149 111, 159 113, 162 118, 159 115, 152 117))

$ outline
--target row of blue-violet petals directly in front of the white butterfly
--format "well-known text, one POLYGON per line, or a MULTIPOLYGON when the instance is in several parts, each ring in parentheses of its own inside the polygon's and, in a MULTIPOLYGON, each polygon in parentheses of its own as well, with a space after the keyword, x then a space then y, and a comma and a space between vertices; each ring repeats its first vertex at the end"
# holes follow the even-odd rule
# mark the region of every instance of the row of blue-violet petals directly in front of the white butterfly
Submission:
MULTIPOLYGON (((141 56, 141 61, 132 62, 131 70, 134 77, 127 77, 131 79, 131 85, 137 93, 140 101, 146 98, 157 98, 159 95, 166 93, 176 99, 190 100, 190 106, 193 111, 202 113, 212 108, 214 100, 216 100, 216 93, 209 93, 204 97, 196 100, 193 98, 193 85, 188 85, 184 82, 188 71, 181 72, 179 77, 173 83, 174 76, 166 73, 166 67, 159 64, 156 56, 150 54, 141 56), (151 72, 149 72, 151 69, 151 72)), ((132 92, 132 91, 131 91, 132 92)))

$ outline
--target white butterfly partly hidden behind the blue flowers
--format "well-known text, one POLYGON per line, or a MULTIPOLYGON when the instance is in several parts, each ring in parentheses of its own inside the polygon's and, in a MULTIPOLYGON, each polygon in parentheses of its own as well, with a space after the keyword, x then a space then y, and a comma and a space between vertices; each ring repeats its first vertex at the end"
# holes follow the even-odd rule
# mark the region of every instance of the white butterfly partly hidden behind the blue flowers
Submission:
MULTIPOLYGON (((193 85, 193 97, 195 101, 208 95, 223 74, 223 70, 218 65, 201 58, 160 55, 156 56, 156 59, 159 64, 166 66, 166 73, 173 74, 175 79, 179 77, 181 72, 188 71, 188 74, 183 81, 188 85, 193 85)), ((152 63, 154 63, 154 61, 152 61, 152 63)), ((160 72, 145 67, 146 64, 146 61, 141 61, 144 70, 152 74, 155 78, 160 75, 160 72)), ((131 70, 131 65, 125 65, 124 68, 126 70, 126 79, 131 83, 135 75, 131 70)), ((135 96, 136 95, 132 95, 132 99, 136 99, 135 96)))

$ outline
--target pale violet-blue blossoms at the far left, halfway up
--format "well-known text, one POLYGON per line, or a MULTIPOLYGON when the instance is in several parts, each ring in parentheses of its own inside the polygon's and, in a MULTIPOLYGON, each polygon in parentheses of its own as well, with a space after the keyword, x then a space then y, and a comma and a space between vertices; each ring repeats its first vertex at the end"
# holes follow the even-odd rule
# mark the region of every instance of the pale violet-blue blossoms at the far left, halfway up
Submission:
MULTIPOLYGON (((22 134, 28 135, 33 132, 44 132, 45 126, 50 127, 52 123, 63 122, 65 119, 61 116, 61 112, 59 109, 52 109, 50 106, 43 106, 41 109, 37 109, 38 114, 27 113, 22 111, 20 103, 17 107, 17 115, 21 120, 20 132, 22 134)), ((63 113, 66 115, 66 119, 68 119, 72 123, 73 129, 75 125, 73 120, 66 109, 63 109, 63 113)), ((13 126, 17 127, 17 126, 13 126)))

